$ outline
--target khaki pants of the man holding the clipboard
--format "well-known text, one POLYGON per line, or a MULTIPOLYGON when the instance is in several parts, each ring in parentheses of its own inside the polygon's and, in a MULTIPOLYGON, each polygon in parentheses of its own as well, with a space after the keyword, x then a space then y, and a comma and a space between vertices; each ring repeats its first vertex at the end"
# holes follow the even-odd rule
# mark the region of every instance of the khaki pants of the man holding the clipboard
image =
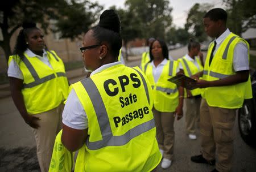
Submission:
POLYGON ((210 107, 203 99, 200 114, 203 157, 213 160, 217 148, 216 169, 221 172, 231 171, 236 109, 210 107))

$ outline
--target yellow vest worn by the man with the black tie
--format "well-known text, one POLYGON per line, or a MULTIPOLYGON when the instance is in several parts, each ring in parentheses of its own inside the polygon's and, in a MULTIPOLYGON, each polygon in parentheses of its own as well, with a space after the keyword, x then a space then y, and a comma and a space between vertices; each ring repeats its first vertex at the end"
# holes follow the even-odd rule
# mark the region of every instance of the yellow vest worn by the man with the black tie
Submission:
MULTIPOLYGON (((236 72, 233 71, 233 57, 234 48, 238 42, 246 43, 249 57, 249 44, 241 37, 234 35, 234 33, 230 33, 217 49, 210 66, 209 58, 213 49, 213 42, 209 45, 203 72, 204 80, 214 81, 236 74, 236 72)), ((250 76, 244 83, 204 88, 202 96, 209 106, 228 109, 241 108, 243 100, 252 97, 250 76)))

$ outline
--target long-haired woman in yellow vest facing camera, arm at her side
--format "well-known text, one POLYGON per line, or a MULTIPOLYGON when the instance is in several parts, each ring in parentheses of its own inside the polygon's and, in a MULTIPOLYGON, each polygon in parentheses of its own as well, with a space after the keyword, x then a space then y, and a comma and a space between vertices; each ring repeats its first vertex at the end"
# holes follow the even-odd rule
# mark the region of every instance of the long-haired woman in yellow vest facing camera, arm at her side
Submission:
MULTIPOLYGON (((167 169, 174 158, 174 121, 183 115, 183 96, 176 84, 168 79, 179 72, 177 61, 168 59, 168 48, 164 41, 155 40, 150 46, 150 62, 142 70, 151 83, 154 94, 154 118, 160 152, 163 154, 161 167, 167 169)), ((183 92, 182 92, 183 93, 183 92)))

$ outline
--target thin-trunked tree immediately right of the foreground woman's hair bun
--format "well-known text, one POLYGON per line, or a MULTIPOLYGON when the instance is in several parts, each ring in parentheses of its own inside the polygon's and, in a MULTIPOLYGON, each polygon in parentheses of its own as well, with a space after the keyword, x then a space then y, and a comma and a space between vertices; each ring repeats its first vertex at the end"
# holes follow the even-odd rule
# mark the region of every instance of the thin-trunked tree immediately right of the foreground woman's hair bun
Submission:
POLYGON ((122 8, 110 7, 117 12, 121 21, 121 35, 123 45, 125 46, 125 59, 128 59, 127 43, 141 36, 141 28, 139 27, 138 18, 135 18, 133 12, 122 8))

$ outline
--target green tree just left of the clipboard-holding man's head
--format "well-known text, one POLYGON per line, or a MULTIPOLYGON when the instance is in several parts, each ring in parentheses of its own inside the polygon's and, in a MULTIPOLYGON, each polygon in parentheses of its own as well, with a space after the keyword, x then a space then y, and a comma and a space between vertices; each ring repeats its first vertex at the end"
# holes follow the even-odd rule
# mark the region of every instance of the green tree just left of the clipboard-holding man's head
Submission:
POLYGON ((200 42, 207 39, 207 35, 204 32, 203 17, 212 7, 213 5, 210 5, 209 3, 196 3, 188 12, 185 29, 192 37, 196 37, 200 42))

